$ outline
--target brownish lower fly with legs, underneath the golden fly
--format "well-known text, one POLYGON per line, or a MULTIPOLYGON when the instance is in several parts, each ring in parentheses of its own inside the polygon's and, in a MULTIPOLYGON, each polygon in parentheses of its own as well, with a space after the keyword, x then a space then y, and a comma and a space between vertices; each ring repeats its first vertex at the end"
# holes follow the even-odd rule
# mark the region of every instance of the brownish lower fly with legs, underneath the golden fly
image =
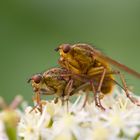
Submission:
MULTIPOLYGON (((100 75, 94 77, 94 85, 97 88, 100 75)), ((108 93, 110 77, 105 77, 106 82, 102 86, 102 92, 108 93), (108 82, 107 82, 108 81, 108 82)), ((55 102, 58 98, 62 101, 68 100, 69 96, 77 94, 80 90, 84 92, 92 92, 89 79, 81 78, 79 75, 74 75, 65 68, 52 68, 43 73, 33 75, 28 82, 31 82, 35 92, 34 100, 42 110, 41 95, 55 95, 55 102)), ((110 86, 112 88, 112 86, 110 86)), ((86 100, 85 100, 86 102, 86 100)), ((83 106, 85 103, 83 104, 83 106)), ((36 107, 36 106, 35 106, 36 107)))

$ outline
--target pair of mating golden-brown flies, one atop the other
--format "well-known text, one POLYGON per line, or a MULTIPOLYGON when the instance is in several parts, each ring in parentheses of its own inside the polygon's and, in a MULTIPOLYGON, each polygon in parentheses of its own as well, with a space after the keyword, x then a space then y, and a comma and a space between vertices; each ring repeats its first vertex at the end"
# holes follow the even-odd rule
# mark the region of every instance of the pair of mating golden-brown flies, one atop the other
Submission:
MULTIPOLYGON (((37 93, 37 103, 40 103, 40 95, 56 94, 58 97, 66 97, 76 94, 78 91, 85 91, 88 98, 88 91, 94 93, 96 106, 105 110, 101 104, 104 95, 111 93, 115 84, 124 89, 126 96, 134 103, 138 101, 129 93, 126 81, 119 70, 112 70, 112 66, 126 71, 127 73, 140 78, 140 73, 127 66, 105 56, 99 50, 88 44, 62 44, 55 49, 59 52, 60 68, 53 68, 43 74, 37 74, 30 78, 32 86, 37 93), (114 78, 118 75, 122 81, 120 85, 114 78)), ((83 106, 84 106, 83 105, 83 106)))

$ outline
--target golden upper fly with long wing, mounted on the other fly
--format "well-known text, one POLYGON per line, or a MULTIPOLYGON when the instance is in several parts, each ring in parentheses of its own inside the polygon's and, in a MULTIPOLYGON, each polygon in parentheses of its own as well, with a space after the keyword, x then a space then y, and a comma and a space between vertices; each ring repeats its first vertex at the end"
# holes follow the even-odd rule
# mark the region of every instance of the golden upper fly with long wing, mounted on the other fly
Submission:
POLYGON ((90 82, 89 89, 94 93, 95 104, 104 109, 100 99, 103 95, 111 93, 114 84, 118 84, 126 96, 135 104, 136 100, 129 94, 125 79, 119 70, 112 70, 111 65, 140 78, 140 73, 104 55, 95 47, 88 44, 62 44, 55 49, 59 51, 59 64, 69 70, 73 75, 78 75, 83 81, 90 82), (122 86, 115 81, 113 75, 118 75, 122 86), (102 95, 103 94, 103 95, 102 95))

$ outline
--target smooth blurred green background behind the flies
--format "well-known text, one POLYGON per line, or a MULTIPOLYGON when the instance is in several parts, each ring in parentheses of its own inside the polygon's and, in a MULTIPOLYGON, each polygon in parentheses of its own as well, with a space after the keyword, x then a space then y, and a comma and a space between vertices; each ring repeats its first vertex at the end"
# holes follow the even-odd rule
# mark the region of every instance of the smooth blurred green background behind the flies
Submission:
MULTIPOLYGON (((27 79, 57 66, 58 45, 79 42, 140 72, 140 0, 1 1, 0 96, 31 101, 27 79)), ((140 80, 125 75, 140 94, 140 80)))

